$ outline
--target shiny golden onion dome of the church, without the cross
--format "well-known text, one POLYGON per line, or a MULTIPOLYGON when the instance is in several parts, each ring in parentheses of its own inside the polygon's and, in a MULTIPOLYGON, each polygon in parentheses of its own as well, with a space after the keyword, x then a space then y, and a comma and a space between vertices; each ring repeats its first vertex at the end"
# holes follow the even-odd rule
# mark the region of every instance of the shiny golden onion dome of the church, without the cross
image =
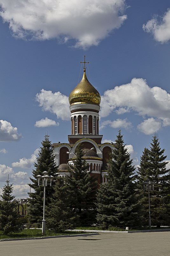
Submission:
POLYGON ((70 105, 74 105, 78 103, 100 105, 100 102, 101 102, 100 94, 88 81, 85 73, 85 69, 84 69, 83 78, 69 95, 69 103, 70 105))

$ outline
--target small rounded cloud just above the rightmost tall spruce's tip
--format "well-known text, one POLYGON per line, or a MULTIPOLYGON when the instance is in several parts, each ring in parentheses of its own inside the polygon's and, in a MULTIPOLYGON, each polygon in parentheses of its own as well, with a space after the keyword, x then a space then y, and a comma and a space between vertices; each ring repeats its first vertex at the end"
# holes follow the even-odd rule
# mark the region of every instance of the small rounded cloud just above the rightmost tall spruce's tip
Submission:
POLYGON ((154 132, 157 132, 161 128, 161 120, 156 120, 153 117, 145 119, 143 122, 137 126, 140 132, 143 132, 146 135, 151 135, 154 132))

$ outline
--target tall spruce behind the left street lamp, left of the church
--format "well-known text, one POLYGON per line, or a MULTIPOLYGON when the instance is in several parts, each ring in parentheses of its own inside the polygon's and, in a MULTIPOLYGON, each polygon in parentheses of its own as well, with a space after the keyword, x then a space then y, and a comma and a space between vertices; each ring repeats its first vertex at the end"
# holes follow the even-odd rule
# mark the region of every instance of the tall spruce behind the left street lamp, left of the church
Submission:
MULTIPOLYGON (((28 193, 29 199, 29 222, 37 223, 40 226, 43 219, 43 200, 44 200, 44 186, 38 186, 37 175, 43 175, 44 171, 48 172, 48 175, 56 176, 57 166, 54 161, 52 144, 49 140, 49 135, 44 136, 44 140, 41 142, 42 147, 37 156, 37 163, 34 163, 35 169, 32 170, 33 178, 31 178, 31 188, 34 192, 28 193)), ((46 186, 45 205, 51 203, 51 196, 54 193, 53 186, 46 186)))

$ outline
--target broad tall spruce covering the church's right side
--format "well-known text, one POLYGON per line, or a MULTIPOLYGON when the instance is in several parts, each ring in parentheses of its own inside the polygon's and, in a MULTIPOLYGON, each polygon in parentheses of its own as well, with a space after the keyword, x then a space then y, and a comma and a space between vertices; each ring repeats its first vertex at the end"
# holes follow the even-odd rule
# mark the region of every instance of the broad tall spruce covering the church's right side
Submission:
POLYGON ((118 130, 107 170, 107 183, 101 184, 97 195, 97 221, 104 229, 110 226, 139 226, 139 195, 136 190, 130 154, 118 130))

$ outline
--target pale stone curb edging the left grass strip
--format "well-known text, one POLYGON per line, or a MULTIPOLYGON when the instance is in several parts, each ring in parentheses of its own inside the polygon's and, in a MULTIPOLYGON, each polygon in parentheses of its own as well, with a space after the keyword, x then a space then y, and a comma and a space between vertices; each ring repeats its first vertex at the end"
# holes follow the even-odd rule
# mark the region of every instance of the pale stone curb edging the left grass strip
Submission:
POLYGON ((83 236, 94 236, 94 235, 99 235, 99 233, 96 232, 96 233, 88 233, 88 234, 61 235, 61 236, 51 236, 51 237, 24 237, 24 238, 9 238, 9 239, 6 238, 6 239, 0 239, 0 242, 17 241, 17 240, 48 239, 48 238, 58 238, 58 237, 83 237, 83 236))

